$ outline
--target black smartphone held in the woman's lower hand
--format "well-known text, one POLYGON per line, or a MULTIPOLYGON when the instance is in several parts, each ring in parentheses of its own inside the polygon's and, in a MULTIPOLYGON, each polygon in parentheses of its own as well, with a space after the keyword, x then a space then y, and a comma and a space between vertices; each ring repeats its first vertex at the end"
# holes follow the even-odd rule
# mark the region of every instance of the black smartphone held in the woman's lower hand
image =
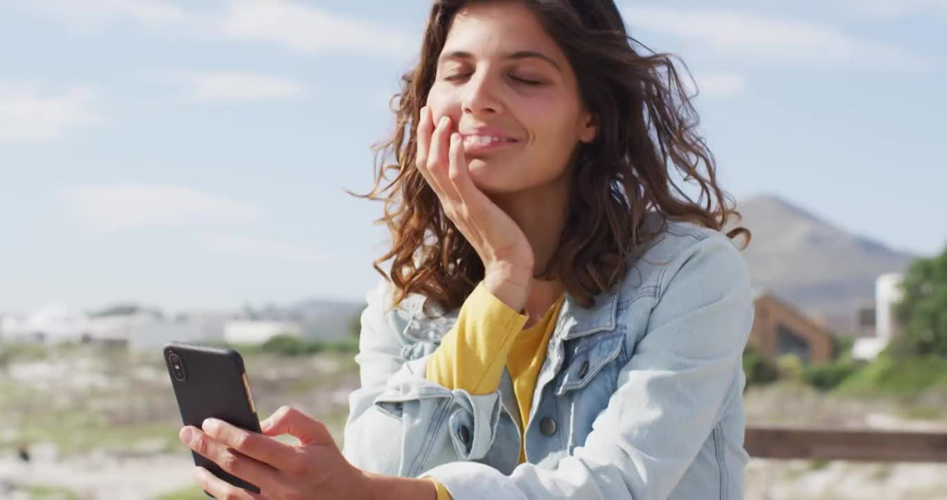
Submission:
MULTIPOLYGON (((230 348, 170 342, 165 345, 164 355, 185 425, 200 429, 204 420, 212 417, 248 431, 260 432, 257 410, 239 352, 230 348)), ((223 471, 208 458, 193 451, 191 455, 194 465, 204 467, 238 488, 259 493, 257 486, 223 471)), ((210 493, 207 496, 213 497, 210 493)))

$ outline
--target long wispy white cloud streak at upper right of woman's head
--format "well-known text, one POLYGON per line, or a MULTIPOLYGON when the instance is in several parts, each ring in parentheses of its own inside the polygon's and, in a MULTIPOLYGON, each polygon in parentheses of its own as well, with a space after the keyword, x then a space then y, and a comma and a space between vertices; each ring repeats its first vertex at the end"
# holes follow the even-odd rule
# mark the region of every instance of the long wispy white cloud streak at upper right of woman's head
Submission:
POLYGON ((634 28, 670 33, 728 56, 816 67, 919 68, 929 62, 902 48, 860 40, 823 25, 734 9, 673 9, 635 4, 634 28))

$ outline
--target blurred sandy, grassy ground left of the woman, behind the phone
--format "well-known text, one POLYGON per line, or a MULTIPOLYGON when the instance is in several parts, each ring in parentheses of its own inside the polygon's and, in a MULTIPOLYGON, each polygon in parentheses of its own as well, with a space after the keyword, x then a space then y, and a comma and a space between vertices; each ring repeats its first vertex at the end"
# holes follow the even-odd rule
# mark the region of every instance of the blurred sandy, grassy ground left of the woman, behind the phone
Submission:
MULTIPOLYGON (((0 360, 3 361, 3 360, 0 360)), ((181 418, 161 351, 27 349, 0 365, 0 500, 206 498, 177 440, 181 418), (29 461, 20 458, 26 450, 29 461)), ((245 358, 260 418, 292 404, 341 444, 350 354, 245 358)))

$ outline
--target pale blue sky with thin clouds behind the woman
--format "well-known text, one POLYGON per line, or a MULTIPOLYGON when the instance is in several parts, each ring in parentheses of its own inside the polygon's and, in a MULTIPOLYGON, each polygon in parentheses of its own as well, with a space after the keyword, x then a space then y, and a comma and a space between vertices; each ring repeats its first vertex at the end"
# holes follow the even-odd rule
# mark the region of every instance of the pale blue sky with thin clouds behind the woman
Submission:
MULTIPOLYGON (((343 188, 429 5, 0 0, 0 312, 363 299, 387 235, 343 188)), ((947 1, 619 6, 688 63, 738 199, 947 243, 947 1)))

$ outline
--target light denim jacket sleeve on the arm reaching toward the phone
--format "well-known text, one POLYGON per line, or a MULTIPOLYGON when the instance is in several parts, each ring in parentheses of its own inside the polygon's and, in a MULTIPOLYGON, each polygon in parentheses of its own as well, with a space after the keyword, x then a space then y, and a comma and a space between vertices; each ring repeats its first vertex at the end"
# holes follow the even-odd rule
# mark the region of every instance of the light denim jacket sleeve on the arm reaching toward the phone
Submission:
POLYGON ((685 253, 658 278, 648 327, 583 446, 553 469, 526 463, 504 475, 450 463, 424 475, 456 500, 667 498, 717 424, 753 316, 748 272, 729 240, 713 235, 685 253))

